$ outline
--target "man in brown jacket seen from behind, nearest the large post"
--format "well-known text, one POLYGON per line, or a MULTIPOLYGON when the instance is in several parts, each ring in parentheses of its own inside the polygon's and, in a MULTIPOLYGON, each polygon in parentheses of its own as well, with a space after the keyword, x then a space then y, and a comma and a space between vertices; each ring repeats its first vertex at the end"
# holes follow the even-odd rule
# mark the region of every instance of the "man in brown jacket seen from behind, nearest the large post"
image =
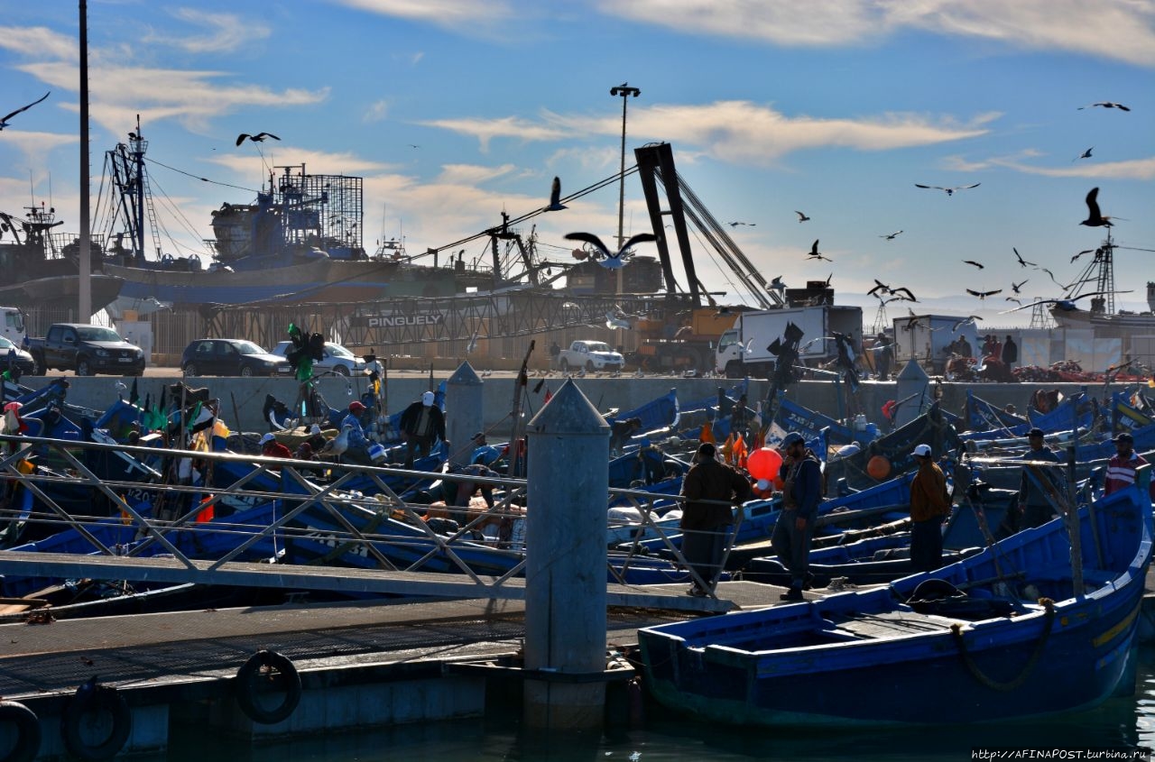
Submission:
POLYGON ((694 465, 681 483, 681 494, 686 499, 681 514, 681 554, 707 585, 702 589, 695 581, 687 591, 692 596, 708 596, 714 590, 722 570, 726 535, 733 524, 731 506, 740 506, 750 498, 750 481, 715 460, 716 453, 711 442, 702 442, 694 465))

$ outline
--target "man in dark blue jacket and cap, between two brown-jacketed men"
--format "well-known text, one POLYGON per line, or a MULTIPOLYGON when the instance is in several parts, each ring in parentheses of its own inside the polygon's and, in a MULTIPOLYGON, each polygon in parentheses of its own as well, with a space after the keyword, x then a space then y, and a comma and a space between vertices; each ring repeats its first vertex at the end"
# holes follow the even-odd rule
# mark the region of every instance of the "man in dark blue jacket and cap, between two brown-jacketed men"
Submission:
POLYGON ((770 545, 790 572, 790 589, 782 593, 782 600, 803 600, 810 577, 810 538, 822 500, 822 472, 818 456, 798 432, 787 434, 782 448, 782 514, 774 524, 770 545))

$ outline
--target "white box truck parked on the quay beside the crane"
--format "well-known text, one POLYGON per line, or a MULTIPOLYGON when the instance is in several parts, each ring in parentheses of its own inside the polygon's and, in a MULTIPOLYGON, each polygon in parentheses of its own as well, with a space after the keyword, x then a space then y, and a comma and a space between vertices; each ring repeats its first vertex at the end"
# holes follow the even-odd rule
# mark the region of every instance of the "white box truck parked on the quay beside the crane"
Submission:
POLYGON ((775 361, 769 346, 784 336, 789 323, 802 330, 798 360, 805 365, 820 365, 839 356, 835 333, 854 336, 856 351, 862 344, 862 307, 824 305, 744 312, 718 339, 715 368, 728 379, 769 378, 775 361))

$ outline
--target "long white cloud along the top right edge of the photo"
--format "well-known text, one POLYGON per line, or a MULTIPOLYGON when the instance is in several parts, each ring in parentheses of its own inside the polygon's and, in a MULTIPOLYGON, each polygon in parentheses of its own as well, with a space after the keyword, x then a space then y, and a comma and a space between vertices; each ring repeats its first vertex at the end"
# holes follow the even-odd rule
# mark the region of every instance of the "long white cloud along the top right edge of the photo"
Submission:
POLYGON ((903 29, 1155 66, 1150 0, 601 0, 599 10, 690 35, 788 47, 873 45, 903 29))

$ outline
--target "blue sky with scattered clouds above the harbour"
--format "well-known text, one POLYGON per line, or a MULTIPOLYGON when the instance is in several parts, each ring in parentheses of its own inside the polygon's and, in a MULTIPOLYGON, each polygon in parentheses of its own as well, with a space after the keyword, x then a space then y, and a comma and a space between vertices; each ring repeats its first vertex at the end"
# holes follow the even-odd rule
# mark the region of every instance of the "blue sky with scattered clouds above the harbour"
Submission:
MULTIPOLYGON (((0 210, 51 204, 67 231, 80 229, 79 28, 64 0, 0 18, 0 114, 51 91, 0 130, 0 210)), ((1011 284, 1027 281, 1029 304, 1083 271, 1087 255, 1072 257, 1104 236, 1079 225, 1095 187, 1117 218, 1116 286, 1132 290, 1117 306, 1146 309, 1155 279, 1155 0, 89 0, 88 28, 94 208, 104 152, 139 114, 178 255, 203 259, 214 209, 301 163, 365 178, 370 251, 446 247, 539 209, 556 175, 562 195, 614 175, 610 88, 628 83, 641 94, 626 104, 626 165, 669 142, 714 217, 745 223, 726 231, 767 279, 830 277, 867 326, 875 278, 919 300, 887 305, 891 318, 1026 324, 1029 309, 999 314, 1011 284), (1104 102, 1131 111, 1090 105, 1104 102), (259 132, 281 140, 234 144, 259 132), (832 261, 807 259, 815 239, 832 261)), ((575 231, 614 241, 618 200, 611 184, 535 217, 538 252, 573 261, 575 231)), ((627 236, 647 231, 636 175, 624 219, 627 236)), ((693 246, 718 301, 753 304, 693 246)))

